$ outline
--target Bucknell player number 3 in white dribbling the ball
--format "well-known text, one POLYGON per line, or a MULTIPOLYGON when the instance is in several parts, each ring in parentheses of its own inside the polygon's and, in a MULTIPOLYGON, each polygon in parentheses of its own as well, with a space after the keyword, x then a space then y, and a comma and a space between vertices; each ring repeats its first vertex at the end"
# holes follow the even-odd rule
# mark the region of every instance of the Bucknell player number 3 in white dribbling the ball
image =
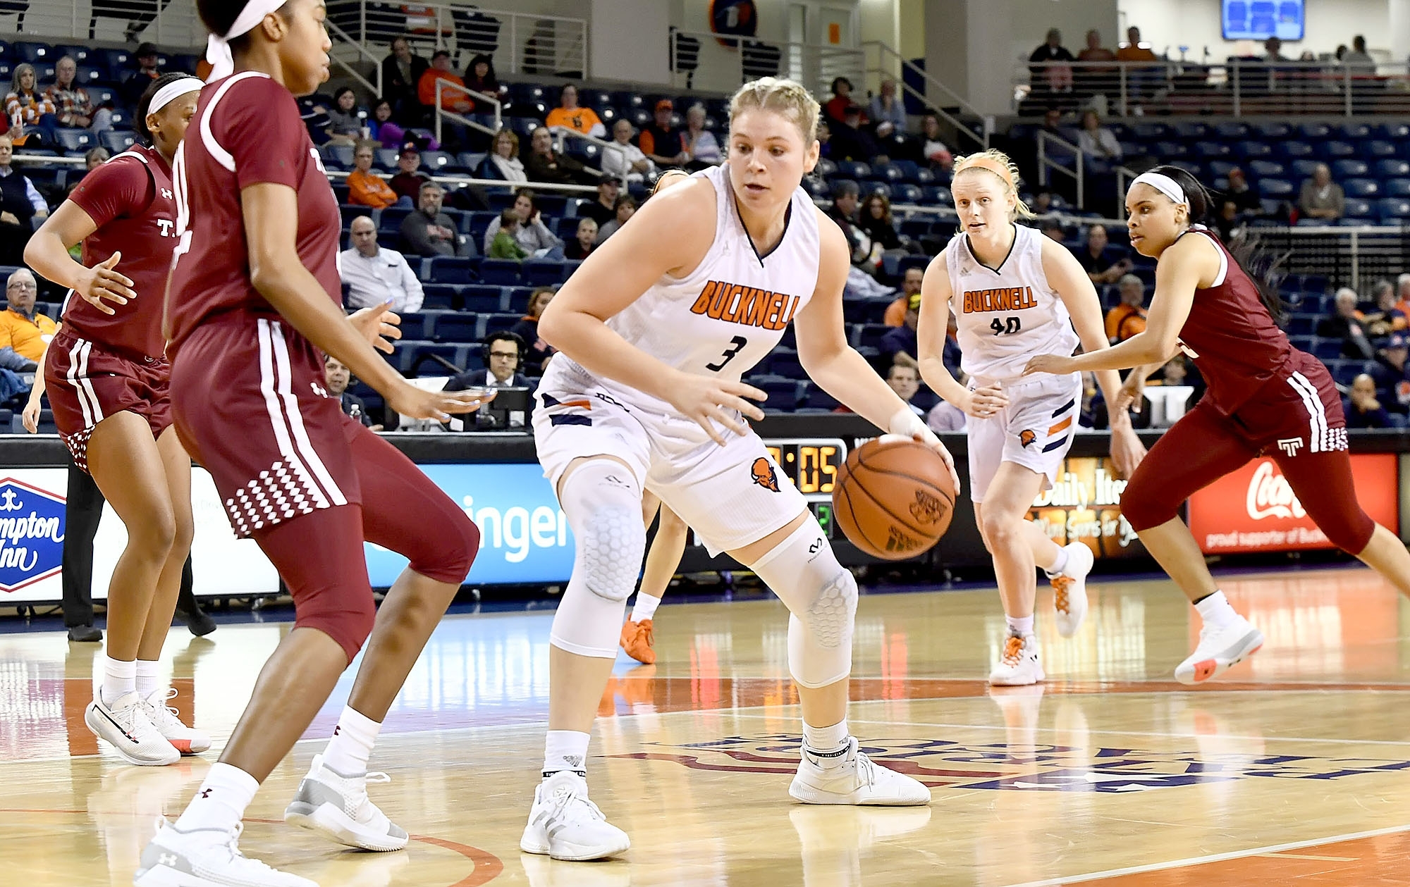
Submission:
POLYGON ((649 200, 540 320, 558 355, 539 386, 534 442, 577 556, 550 635, 543 781, 519 843, 527 853, 584 860, 630 846, 588 800, 585 777, 646 545, 646 490, 792 611, 788 665, 804 742, 790 794, 812 804, 929 803, 925 786, 874 765, 847 731, 856 581, 744 421, 763 417, 749 398, 764 393, 740 375, 792 321, 799 359, 823 390, 950 462, 847 346, 847 244, 799 187, 818 162, 816 125, 818 103, 798 83, 746 83, 730 104, 728 162, 649 200), (767 474, 753 469, 759 459, 767 474))

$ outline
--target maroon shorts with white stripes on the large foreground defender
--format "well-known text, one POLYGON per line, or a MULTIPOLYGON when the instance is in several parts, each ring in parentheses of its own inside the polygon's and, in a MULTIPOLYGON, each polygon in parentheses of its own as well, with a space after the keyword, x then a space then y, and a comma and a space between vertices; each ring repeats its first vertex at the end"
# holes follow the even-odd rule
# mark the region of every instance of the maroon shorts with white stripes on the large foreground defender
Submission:
POLYGON ((361 504, 343 410, 323 386, 317 349, 278 317, 223 314, 176 353, 176 434, 210 472, 237 536, 361 504))

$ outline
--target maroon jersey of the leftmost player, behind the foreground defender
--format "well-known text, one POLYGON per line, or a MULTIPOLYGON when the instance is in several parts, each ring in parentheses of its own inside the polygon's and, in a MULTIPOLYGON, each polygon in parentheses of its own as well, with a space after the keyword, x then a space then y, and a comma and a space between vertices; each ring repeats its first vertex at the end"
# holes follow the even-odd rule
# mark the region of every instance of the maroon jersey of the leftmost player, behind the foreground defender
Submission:
POLYGON ((83 241, 83 265, 121 252, 117 270, 133 282, 137 298, 113 306, 109 315, 70 296, 63 325, 113 351, 161 358, 162 298, 176 248, 171 168, 155 148, 135 145, 85 176, 69 200, 97 225, 83 241))

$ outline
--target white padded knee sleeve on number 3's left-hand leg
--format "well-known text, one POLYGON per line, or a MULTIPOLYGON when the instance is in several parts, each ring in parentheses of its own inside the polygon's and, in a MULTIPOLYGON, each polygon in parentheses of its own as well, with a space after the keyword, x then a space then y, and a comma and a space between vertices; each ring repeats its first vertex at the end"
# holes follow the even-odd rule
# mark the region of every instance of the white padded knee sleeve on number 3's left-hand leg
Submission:
POLYGON ((646 549, 642 486, 623 465, 594 459, 568 474, 560 500, 577 555, 548 639, 570 653, 615 659, 646 549))

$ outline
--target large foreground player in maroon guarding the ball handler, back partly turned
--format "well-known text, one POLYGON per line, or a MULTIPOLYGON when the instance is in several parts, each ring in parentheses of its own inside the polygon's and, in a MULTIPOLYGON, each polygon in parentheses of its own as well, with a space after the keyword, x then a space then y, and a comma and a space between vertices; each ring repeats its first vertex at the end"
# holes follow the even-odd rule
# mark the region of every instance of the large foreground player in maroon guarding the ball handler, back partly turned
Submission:
POLYGON ((406 832, 367 795, 367 763, 479 546, 455 503, 343 414, 323 387, 323 355, 413 418, 446 421, 485 394, 410 386, 374 351, 391 349, 396 315, 385 306, 343 314, 337 200, 295 101, 329 76, 323 0, 199 0, 197 11, 214 70, 172 176, 180 237, 166 296, 172 414, 235 534, 278 567, 296 621, 220 762, 142 852, 134 884, 310 887, 240 853, 245 807, 371 635, 348 705, 285 819, 347 846, 406 846, 406 832), (364 539, 410 562, 381 610, 364 539))

